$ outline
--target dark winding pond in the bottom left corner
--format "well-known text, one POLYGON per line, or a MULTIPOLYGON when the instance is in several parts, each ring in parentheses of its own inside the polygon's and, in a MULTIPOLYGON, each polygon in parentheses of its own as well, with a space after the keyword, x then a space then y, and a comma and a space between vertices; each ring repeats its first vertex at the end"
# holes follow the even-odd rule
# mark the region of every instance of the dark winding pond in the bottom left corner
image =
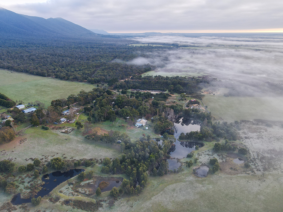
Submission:
MULTIPOLYGON (((56 172, 52 172, 50 174, 43 175, 41 180, 43 182, 45 182, 45 184, 42 186, 42 189, 34 197, 37 198, 39 196, 43 197, 45 195, 48 195, 49 192, 51 192, 60 183, 66 181, 68 179, 71 179, 72 177, 78 175, 79 173, 81 173, 83 171, 84 171, 83 169, 71 169, 67 172, 56 171, 56 172), (48 177, 49 177, 49 179, 46 179, 48 177), (56 179, 56 181, 54 182, 55 179, 56 179)), ((31 198, 22 199, 22 198, 20 198, 20 194, 15 195, 13 197, 13 199, 11 200, 11 203, 13 205, 18 205, 18 204, 22 204, 22 203, 29 203, 29 202, 31 202, 31 198)))

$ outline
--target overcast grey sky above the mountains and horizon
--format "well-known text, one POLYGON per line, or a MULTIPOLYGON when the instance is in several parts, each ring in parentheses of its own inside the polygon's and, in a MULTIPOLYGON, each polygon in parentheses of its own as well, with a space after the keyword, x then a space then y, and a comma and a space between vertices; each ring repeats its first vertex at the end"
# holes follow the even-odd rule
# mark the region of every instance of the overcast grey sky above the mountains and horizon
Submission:
POLYGON ((62 17, 110 33, 283 32, 282 0, 0 0, 0 7, 30 16, 62 17))

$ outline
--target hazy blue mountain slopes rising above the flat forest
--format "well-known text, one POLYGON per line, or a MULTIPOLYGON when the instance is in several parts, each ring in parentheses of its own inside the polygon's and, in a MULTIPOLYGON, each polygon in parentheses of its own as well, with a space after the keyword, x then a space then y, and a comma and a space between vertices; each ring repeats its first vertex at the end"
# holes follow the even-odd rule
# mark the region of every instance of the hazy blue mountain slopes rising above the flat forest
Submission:
POLYGON ((11 36, 91 36, 96 33, 63 18, 41 18, 0 8, 0 34, 11 36))

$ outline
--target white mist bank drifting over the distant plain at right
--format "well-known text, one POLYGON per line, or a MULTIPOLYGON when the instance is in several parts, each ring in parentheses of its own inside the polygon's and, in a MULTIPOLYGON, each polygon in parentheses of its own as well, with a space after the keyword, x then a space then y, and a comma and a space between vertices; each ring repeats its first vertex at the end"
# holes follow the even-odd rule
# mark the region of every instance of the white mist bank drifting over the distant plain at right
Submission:
POLYGON ((179 44, 186 47, 160 50, 135 64, 150 63, 158 70, 181 76, 209 74, 222 82, 232 96, 283 94, 283 36, 262 35, 158 35, 136 37, 137 43, 179 44), (278 84, 280 83, 280 84, 278 84))

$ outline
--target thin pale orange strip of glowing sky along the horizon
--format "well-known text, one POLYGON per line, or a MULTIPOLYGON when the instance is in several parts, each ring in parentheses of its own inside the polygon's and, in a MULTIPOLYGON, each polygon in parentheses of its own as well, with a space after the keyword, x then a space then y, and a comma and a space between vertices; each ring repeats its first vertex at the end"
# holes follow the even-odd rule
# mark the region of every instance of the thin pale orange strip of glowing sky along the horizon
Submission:
POLYGON ((130 30, 119 30, 119 31, 108 31, 108 33, 113 34, 123 34, 123 33, 283 33, 283 28, 277 29, 256 29, 256 30, 153 30, 153 31, 130 31, 130 30))

